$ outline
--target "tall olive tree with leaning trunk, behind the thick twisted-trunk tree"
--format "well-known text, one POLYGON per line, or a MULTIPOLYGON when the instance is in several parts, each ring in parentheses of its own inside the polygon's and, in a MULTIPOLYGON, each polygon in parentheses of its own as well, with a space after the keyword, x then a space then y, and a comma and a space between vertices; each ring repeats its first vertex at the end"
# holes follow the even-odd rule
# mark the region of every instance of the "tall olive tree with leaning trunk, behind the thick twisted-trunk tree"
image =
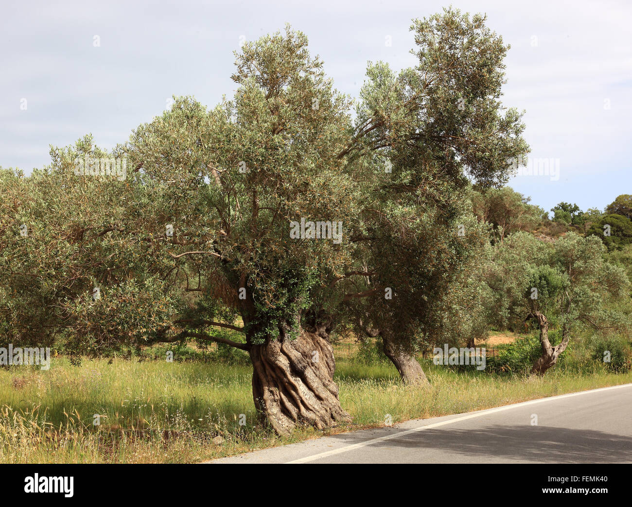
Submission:
POLYGON ((368 193, 356 224, 353 241, 370 273, 356 283, 374 294, 354 301, 351 313, 358 333, 382 338, 404 381, 425 383, 415 360, 420 340, 439 339, 435 323, 458 299, 459 272, 487 242, 487 226, 465 204, 470 182, 506 182, 528 146, 521 114, 500 100, 509 48, 483 16, 445 9, 411 30, 418 64, 398 74, 370 64, 354 134, 364 141, 348 149, 376 164, 383 157, 391 175, 368 193))

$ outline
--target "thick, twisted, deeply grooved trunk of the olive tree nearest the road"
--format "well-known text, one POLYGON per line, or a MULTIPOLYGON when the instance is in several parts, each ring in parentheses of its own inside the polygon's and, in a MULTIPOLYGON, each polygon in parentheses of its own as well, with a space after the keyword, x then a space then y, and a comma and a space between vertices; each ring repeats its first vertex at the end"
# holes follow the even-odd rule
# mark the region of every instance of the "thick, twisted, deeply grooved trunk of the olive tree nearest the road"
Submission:
POLYGON ((297 424, 324 429, 351 421, 334 382, 334 350, 327 340, 301 330, 295 340, 268 340, 250 347, 255 407, 280 435, 297 424))

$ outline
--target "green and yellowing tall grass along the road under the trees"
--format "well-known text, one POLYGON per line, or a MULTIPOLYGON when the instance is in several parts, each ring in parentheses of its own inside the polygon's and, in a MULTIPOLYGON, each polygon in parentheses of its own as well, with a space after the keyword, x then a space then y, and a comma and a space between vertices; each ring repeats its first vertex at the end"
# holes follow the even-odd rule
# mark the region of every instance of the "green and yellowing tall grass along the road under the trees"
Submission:
POLYGON ((52 361, 0 369, 0 462, 199 462, 359 427, 487 409, 632 382, 632 373, 556 368, 544 378, 451 371, 423 361, 430 388, 399 381, 389 364, 339 359, 336 380, 353 423, 280 438, 256 424, 249 366, 165 361, 52 361), (100 426, 93 415, 100 414, 100 426), (240 414, 246 425, 240 426, 240 414), (217 445, 212 438, 222 436, 217 445))

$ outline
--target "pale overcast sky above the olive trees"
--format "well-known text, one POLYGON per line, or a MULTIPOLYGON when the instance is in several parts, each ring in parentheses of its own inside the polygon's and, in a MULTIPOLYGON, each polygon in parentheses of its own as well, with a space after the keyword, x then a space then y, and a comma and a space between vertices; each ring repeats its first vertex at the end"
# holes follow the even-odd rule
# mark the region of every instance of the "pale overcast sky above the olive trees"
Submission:
MULTIPOLYGON (((631 5, 453 2, 487 13, 511 44, 503 102, 526 110, 530 157, 554 159, 559 179, 518 176, 509 184, 547 210, 559 201, 604 208, 632 193, 631 5)), ((212 107, 233 94, 240 40, 286 22, 307 34, 336 88, 357 97, 368 60, 415 64, 410 21, 440 9, 420 0, 4 3, 0 165, 30 172, 50 162, 49 145, 87 133, 112 148, 161 114, 172 95, 212 107)))

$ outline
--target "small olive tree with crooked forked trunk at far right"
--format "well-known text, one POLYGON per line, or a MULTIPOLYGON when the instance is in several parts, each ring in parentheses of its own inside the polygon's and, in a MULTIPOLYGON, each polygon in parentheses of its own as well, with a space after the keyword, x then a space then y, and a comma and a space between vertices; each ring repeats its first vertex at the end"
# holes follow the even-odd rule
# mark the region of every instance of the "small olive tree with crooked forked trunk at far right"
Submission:
POLYGON ((623 268, 604 260, 604 252, 598 237, 574 233, 549 246, 518 232, 497 247, 487 274, 494 297, 489 310, 501 324, 511 319, 535 323, 542 354, 532 374, 543 375, 555 366, 583 329, 628 328, 627 311, 619 300, 628 294, 629 280, 623 268), (552 328, 559 331, 559 343, 549 338, 552 328))

